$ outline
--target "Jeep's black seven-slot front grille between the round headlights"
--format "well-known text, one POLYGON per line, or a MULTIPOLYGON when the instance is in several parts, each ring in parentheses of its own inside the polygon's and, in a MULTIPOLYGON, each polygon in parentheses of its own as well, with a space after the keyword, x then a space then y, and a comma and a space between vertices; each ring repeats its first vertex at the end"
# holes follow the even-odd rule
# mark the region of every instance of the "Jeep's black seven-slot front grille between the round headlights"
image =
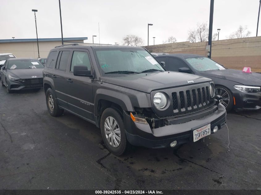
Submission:
POLYGON ((198 110, 209 104, 209 88, 200 87, 191 90, 172 92, 173 112, 186 113, 198 110))

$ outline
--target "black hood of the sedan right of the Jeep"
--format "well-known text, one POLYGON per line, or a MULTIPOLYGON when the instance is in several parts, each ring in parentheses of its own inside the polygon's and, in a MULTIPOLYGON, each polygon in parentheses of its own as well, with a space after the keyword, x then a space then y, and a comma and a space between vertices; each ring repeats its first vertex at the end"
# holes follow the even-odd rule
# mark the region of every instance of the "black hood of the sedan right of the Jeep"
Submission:
POLYGON ((261 74, 256 72, 245 73, 239 70, 225 69, 225 70, 201 72, 201 75, 204 75, 206 77, 216 77, 220 79, 226 79, 237 83, 241 83, 243 85, 254 85, 254 86, 261 85, 261 74))

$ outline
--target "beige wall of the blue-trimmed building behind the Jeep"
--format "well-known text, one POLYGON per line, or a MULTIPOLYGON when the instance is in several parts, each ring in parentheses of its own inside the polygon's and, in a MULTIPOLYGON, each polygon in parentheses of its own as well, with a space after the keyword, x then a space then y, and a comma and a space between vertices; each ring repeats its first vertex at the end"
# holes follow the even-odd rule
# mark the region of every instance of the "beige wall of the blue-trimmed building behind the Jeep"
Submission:
MULTIPOLYGON (((74 41, 70 42, 74 43, 74 41)), ((70 42, 65 42, 65 44, 70 42)), ((78 40, 75 42, 83 43, 78 40)), ((51 49, 62 44, 61 41, 40 41, 38 43, 41 58, 46 58, 51 49)), ((37 42, 0 43, 0 53, 12 53, 17 58, 38 58, 37 42)))

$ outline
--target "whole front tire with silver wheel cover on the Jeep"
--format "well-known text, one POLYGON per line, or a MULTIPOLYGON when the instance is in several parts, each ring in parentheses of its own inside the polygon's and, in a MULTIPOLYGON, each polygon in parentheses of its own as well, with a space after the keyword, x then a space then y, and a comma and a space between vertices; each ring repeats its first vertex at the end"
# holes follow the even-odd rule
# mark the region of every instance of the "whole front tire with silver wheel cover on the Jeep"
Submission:
POLYGON ((101 116, 101 134, 104 144, 116 156, 122 155, 130 146, 125 135, 122 114, 115 108, 107 108, 101 116))

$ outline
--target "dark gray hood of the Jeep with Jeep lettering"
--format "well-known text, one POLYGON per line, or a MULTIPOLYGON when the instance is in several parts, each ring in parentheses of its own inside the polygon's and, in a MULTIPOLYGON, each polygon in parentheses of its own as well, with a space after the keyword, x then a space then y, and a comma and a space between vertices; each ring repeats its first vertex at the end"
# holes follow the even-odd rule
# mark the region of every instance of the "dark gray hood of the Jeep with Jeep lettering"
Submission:
POLYGON ((141 74, 108 74, 102 78, 103 82, 128 87, 134 90, 150 93, 156 89, 192 85, 211 81, 206 77, 179 72, 151 72, 141 74), (194 83, 187 83, 193 80, 194 83))

